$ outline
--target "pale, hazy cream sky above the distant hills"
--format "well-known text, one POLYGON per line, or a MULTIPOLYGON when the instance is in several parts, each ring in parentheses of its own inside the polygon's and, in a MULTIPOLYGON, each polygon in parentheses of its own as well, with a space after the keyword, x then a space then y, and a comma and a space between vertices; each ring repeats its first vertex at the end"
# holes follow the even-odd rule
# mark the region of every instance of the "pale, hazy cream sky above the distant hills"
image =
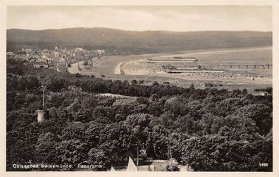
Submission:
POLYGON ((8 6, 7 28, 272 30, 272 6, 8 6))

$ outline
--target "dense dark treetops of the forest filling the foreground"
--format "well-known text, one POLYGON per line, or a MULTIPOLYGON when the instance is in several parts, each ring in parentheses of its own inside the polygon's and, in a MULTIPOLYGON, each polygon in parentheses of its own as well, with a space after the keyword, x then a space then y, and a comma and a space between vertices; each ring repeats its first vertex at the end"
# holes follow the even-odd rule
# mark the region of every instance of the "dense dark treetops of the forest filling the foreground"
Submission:
POLYGON ((194 171, 272 171, 271 96, 144 86, 34 69, 17 61, 8 61, 7 67, 8 171, 23 170, 13 164, 75 168, 85 161, 106 171, 127 165, 137 147, 147 152, 140 154, 141 161, 172 157, 194 171), (42 83, 48 114, 37 123, 42 83), (67 92, 68 85, 85 92, 67 92), (135 97, 95 94, 102 92, 135 97))

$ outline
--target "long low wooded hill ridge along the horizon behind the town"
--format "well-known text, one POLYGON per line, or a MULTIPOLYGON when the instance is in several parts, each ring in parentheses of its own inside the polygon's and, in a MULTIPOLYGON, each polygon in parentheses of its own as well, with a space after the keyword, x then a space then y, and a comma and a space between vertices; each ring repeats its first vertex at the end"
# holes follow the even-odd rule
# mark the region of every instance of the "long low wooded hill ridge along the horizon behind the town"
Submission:
POLYGON ((7 30, 7 44, 83 46, 87 49, 139 49, 178 51, 259 47, 272 45, 272 32, 254 31, 125 31, 110 28, 68 28, 61 30, 7 30))

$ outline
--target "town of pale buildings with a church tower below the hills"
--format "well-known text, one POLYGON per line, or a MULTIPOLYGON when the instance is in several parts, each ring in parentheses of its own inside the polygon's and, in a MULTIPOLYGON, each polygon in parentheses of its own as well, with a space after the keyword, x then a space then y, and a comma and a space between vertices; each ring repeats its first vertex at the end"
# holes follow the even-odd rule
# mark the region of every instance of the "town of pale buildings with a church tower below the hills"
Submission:
POLYGON ((43 49, 42 51, 32 49, 22 49, 21 51, 8 51, 7 59, 21 59, 27 61, 27 65, 34 68, 53 68, 57 71, 66 71, 71 63, 78 61, 88 61, 89 65, 92 63, 92 58, 101 58, 104 56, 105 51, 75 48, 75 49, 61 49, 56 44, 54 50, 43 49))

